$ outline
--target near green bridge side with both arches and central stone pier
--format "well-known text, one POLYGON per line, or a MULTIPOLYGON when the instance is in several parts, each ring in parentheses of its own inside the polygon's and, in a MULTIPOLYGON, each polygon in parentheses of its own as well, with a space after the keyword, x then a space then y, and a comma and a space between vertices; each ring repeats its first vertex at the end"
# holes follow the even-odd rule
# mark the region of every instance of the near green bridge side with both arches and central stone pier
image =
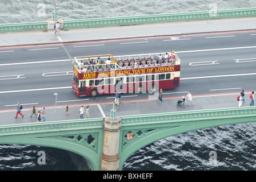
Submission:
POLYGON ((0 126, 0 144, 61 148, 81 155, 95 171, 122 170, 131 154, 157 140, 209 127, 255 121, 256 106, 250 106, 130 115, 115 120, 26 123, 0 126), (115 127, 110 129, 108 125, 115 127), (107 164, 106 169, 103 166, 107 164))

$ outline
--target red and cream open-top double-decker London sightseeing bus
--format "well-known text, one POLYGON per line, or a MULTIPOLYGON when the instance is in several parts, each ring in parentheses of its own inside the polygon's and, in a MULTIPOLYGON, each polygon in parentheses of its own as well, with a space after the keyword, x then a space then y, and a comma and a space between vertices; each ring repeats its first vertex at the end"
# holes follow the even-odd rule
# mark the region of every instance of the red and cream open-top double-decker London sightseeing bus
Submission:
POLYGON ((94 55, 74 58, 73 90, 77 96, 154 93, 179 86, 181 60, 172 51, 151 55, 94 55))

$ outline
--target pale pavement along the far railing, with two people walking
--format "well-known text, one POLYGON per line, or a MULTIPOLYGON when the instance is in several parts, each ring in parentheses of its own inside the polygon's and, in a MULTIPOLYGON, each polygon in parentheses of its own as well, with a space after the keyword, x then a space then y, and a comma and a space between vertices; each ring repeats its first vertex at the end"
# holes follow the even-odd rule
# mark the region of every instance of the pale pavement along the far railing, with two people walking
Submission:
POLYGON ((53 44, 59 43, 60 41, 69 43, 238 30, 256 30, 256 18, 191 20, 133 26, 77 28, 61 30, 59 38, 54 34, 55 30, 3 32, 0 33, 0 47, 27 44, 53 44))

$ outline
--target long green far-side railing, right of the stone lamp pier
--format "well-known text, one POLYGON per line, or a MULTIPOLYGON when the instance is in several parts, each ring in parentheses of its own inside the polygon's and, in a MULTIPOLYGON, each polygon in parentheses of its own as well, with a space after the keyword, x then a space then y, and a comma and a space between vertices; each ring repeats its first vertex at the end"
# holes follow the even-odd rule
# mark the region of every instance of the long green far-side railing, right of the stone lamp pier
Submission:
POLYGON ((120 26, 130 24, 174 22, 199 19, 235 18, 255 15, 256 8, 216 11, 195 11, 187 13, 169 13, 139 16, 122 16, 113 18, 65 20, 64 28, 120 26))

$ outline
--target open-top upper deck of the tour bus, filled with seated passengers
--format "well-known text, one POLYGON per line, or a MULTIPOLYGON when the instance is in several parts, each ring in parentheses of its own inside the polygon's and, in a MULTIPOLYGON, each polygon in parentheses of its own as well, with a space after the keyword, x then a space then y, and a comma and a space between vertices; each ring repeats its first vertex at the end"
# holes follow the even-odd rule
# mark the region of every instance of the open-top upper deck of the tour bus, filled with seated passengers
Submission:
MULTIPOLYGON (((164 55, 166 55, 165 53, 164 55)), ((154 55, 122 56, 115 59, 112 55, 82 56, 74 58, 74 71, 79 73, 109 72, 123 69, 163 67, 166 65, 180 65, 178 55, 172 51, 166 57, 154 55)), ((84 77, 86 78, 86 77, 84 77)))

